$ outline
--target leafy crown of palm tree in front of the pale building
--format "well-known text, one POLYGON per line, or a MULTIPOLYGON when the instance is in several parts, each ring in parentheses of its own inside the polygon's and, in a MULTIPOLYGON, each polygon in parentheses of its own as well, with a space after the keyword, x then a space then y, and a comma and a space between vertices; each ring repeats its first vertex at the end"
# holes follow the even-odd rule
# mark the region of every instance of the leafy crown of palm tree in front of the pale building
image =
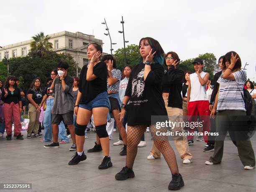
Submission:
POLYGON ((33 40, 30 44, 31 46, 31 54, 36 56, 44 56, 44 54, 52 49, 52 43, 49 42, 48 35, 44 36, 44 32, 40 32, 35 36, 32 36, 33 40))

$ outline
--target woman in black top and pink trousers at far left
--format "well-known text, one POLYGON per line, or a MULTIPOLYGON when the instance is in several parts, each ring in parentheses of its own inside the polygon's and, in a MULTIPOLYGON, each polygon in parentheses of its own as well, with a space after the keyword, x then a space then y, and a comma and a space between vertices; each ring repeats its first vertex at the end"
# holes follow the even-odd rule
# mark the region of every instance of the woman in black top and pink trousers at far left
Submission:
POLYGON ((5 102, 3 110, 5 117, 5 130, 7 133, 7 140, 12 139, 12 118, 14 122, 14 134, 17 139, 23 140, 21 136, 20 113, 22 111, 22 103, 20 90, 15 83, 15 78, 9 76, 3 86, 2 100, 5 102))

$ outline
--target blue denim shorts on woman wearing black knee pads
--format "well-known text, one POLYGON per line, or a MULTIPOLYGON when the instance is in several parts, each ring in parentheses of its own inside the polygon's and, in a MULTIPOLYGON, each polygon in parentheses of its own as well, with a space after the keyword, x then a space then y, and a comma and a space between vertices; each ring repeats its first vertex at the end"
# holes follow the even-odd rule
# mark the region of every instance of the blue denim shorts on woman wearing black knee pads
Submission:
POLYGON ((93 100, 86 104, 79 104, 79 108, 92 111, 92 108, 108 108, 110 110, 110 102, 108 99, 108 92, 98 94, 93 100))

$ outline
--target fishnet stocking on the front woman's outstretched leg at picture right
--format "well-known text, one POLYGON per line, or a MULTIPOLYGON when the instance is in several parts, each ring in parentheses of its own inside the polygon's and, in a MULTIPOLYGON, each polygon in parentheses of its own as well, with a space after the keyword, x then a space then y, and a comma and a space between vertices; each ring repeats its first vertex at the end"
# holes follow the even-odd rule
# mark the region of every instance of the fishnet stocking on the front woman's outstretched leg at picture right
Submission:
POLYGON ((158 148, 161 154, 163 154, 172 174, 179 173, 176 156, 168 141, 168 137, 156 136, 156 131, 160 131, 160 133, 167 133, 167 128, 156 129, 156 125, 150 125, 149 129, 156 148, 158 148))

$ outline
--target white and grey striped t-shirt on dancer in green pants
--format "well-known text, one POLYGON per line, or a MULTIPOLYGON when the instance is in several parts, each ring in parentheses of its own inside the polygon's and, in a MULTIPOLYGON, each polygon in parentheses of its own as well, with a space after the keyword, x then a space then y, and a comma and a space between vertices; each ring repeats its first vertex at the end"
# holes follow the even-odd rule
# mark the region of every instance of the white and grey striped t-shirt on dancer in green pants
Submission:
POLYGON ((221 74, 218 79, 220 92, 218 97, 217 111, 241 110, 246 111, 243 101, 243 86, 246 82, 246 72, 237 71, 233 73, 235 80, 223 79, 221 74))

